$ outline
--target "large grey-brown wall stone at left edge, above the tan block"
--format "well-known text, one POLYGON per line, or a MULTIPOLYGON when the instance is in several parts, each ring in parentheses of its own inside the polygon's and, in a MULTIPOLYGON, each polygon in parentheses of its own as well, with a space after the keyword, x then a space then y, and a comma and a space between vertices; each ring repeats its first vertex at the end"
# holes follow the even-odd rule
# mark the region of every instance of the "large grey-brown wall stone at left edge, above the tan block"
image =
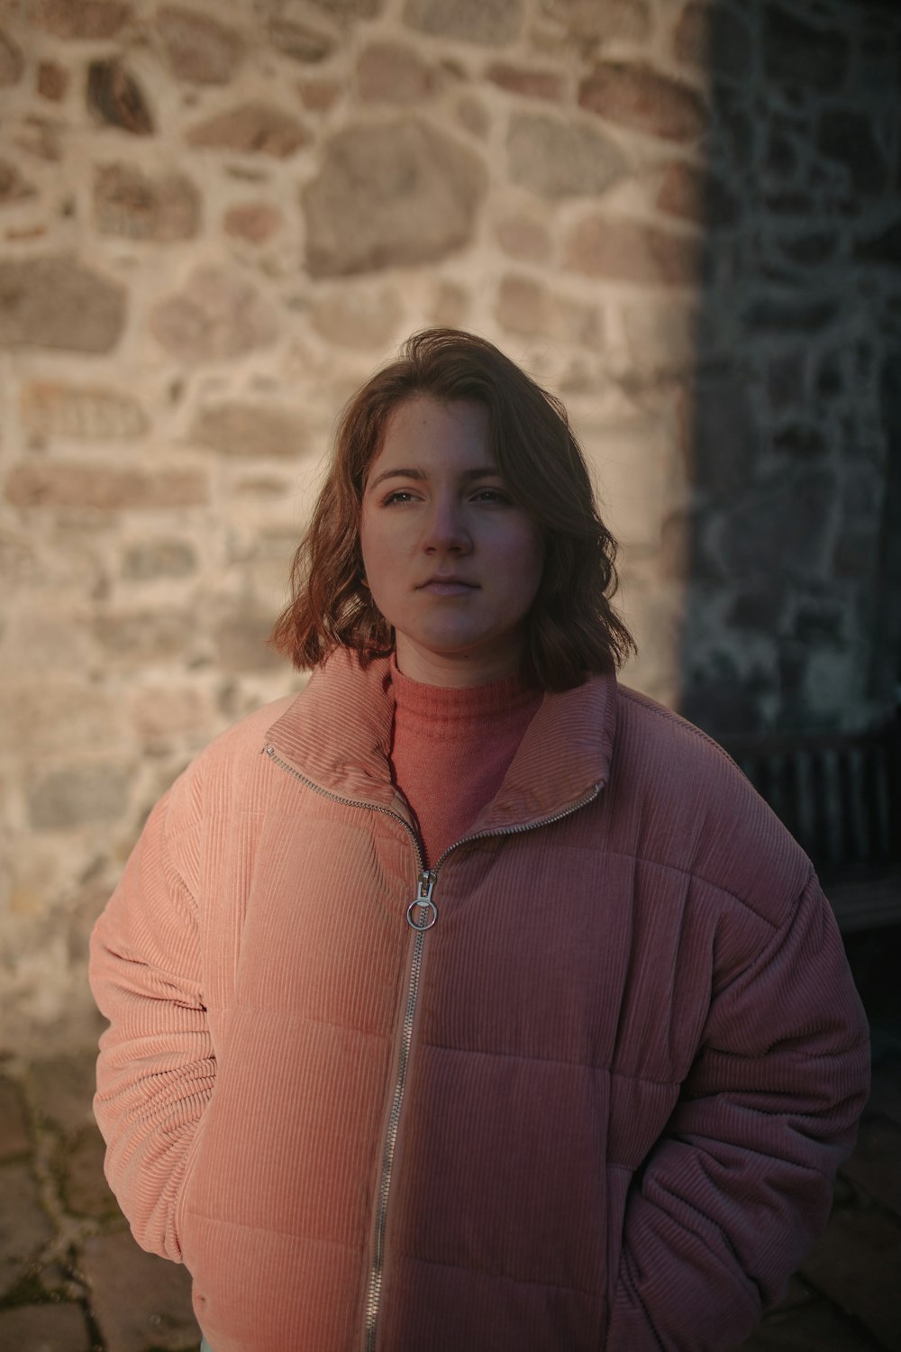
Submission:
POLYGON ((124 324, 124 287, 74 258, 0 261, 0 347, 107 353, 124 324))

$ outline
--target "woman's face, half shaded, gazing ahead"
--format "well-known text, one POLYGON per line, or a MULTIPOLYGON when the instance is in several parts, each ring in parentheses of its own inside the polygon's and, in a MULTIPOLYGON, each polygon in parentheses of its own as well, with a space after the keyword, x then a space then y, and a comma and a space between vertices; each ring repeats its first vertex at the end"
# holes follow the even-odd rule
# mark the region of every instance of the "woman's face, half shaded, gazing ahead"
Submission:
POLYGON ((416 395, 394 408, 363 485, 359 539, 405 676, 475 685, 519 671, 544 546, 497 470, 482 404, 416 395))

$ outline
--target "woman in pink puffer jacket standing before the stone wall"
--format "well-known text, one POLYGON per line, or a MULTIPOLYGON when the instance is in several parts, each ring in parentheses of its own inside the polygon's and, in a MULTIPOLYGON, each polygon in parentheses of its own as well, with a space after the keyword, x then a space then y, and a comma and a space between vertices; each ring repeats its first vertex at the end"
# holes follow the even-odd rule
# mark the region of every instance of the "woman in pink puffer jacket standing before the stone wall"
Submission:
POLYGON ((215 1352, 736 1347, 825 1224, 863 1014, 809 861, 617 685, 562 407, 434 330, 351 400, 276 641, 93 936, 97 1117, 215 1352))

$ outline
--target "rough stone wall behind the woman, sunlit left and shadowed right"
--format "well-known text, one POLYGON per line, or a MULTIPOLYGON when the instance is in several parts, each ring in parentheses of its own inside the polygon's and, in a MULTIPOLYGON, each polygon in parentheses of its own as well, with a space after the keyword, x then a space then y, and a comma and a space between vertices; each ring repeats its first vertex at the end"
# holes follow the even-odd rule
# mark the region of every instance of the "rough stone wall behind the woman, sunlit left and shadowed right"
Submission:
POLYGON ((146 811, 297 687, 265 638, 330 429, 413 329, 567 402, 634 684, 725 731, 886 706, 890 0, 0 16, 0 1042, 85 1034, 146 811))

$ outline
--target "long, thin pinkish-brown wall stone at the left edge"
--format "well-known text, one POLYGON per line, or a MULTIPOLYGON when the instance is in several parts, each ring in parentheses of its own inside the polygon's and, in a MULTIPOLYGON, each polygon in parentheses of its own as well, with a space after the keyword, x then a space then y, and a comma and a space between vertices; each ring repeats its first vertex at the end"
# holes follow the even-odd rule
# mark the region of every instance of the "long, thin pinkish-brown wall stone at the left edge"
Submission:
POLYGON ((89 507, 96 511, 158 511, 200 507, 209 498, 207 476, 193 469, 109 469, 107 465, 20 464, 7 477, 14 507, 89 507))

